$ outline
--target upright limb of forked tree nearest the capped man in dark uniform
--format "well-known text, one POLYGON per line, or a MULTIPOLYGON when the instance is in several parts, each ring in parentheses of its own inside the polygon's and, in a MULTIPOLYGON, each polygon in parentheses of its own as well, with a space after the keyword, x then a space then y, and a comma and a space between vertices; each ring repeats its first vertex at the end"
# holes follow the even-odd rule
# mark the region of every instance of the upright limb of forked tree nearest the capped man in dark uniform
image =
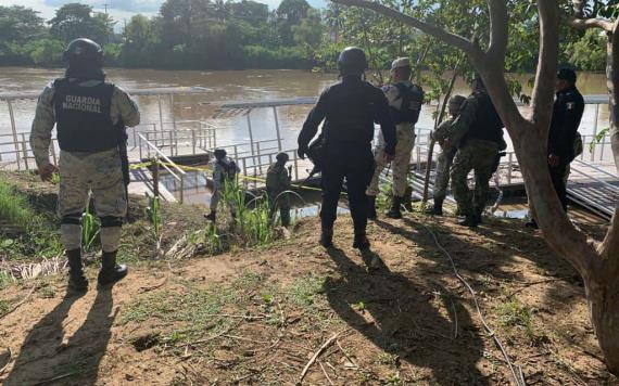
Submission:
POLYGON ((553 111, 553 94, 559 56, 559 17, 556 1, 538 1, 540 14, 540 55, 535 73, 535 87, 531 95, 532 120, 547 138, 553 111))

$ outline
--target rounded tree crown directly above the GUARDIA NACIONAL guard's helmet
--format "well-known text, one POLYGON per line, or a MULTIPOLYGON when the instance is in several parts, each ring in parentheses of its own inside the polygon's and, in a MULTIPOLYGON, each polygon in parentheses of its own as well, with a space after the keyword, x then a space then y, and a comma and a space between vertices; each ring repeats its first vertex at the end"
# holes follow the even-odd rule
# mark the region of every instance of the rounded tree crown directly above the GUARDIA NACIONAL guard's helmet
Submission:
POLYGON ((49 22, 51 35, 63 41, 89 38, 99 43, 106 42, 112 33, 113 25, 109 23, 105 15, 92 16, 92 7, 80 3, 62 5, 49 22))

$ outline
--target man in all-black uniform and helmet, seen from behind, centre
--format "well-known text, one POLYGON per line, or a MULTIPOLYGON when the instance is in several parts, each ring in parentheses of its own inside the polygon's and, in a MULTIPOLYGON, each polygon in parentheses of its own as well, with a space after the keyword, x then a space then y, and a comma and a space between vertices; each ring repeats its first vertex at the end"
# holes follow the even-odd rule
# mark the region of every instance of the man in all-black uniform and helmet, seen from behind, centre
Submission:
POLYGON ((350 47, 338 59, 342 80, 320 94, 299 134, 299 156, 304 158, 310 141, 323 126, 323 207, 320 210, 320 244, 332 246, 333 223, 342 183, 346 189, 355 239, 353 247, 369 248, 366 237, 367 197, 365 190, 374 175, 371 140, 374 123, 380 124, 384 138, 384 156, 391 160, 395 154, 395 127, 389 104, 381 90, 364 81, 367 60, 362 49, 350 47))

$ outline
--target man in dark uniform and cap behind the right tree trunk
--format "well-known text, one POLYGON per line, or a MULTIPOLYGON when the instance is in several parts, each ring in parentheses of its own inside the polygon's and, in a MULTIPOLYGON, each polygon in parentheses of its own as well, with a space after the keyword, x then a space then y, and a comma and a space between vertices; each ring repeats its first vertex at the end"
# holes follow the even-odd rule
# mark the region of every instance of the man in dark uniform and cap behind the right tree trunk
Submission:
MULTIPOLYGON (((555 90, 557 98, 553 105, 553 117, 548 130, 548 170, 557 196, 567 211, 567 178, 569 166, 579 152, 578 127, 584 113, 584 99, 576 88, 577 75, 571 68, 561 68, 557 73, 555 90)), ((582 140, 581 140, 582 141, 582 140)), ((582 143, 582 142, 581 142, 582 143)), ((538 228, 533 218, 526 224, 538 228)))

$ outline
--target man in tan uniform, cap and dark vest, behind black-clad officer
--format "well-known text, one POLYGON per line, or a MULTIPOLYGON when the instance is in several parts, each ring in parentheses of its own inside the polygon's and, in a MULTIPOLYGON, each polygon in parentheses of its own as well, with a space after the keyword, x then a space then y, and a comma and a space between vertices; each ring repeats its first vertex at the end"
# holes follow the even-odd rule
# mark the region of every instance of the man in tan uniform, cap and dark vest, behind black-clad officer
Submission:
MULTIPOLYGON (((419 119, 421 104, 424 103, 424 90, 419 86, 410 82, 410 61, 408 57, 400 57, 391 65, 393 85, 383 87, 382 91, 389 102, 389 110, 393 123, 395 124, 397 146, 395 147, 395 158, 391 162, 393 168, 393 198, 391 209, 387 213, 390 218, 402 218, 400 207, 403 204, 406 188, 408 185, 408 166, 410 164, 410 152, 415 145, 415 124, 419 119)), ((374 177, 366 191, 368 198, 368 218, 375 219, 376 196, 379 193, 379 179, 382 170, 387 166, 384 154, 384 139, 382 133, 378 134, 378 144, 375 150, 376 169, 374 177)))

